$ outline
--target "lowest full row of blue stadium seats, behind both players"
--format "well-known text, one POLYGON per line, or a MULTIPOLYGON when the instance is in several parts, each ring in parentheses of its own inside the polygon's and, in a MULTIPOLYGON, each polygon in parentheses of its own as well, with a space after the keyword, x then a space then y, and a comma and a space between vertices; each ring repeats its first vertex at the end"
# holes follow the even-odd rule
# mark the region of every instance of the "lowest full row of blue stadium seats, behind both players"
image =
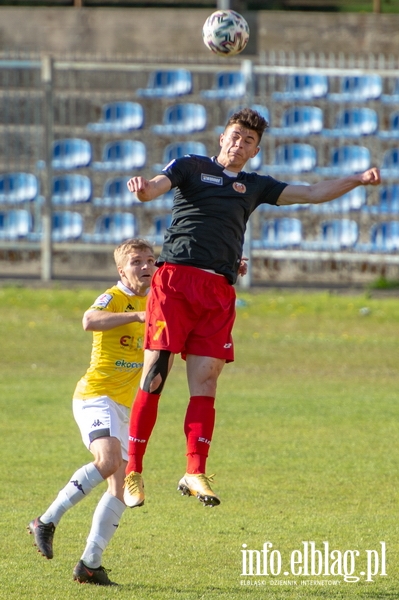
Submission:
MULTIPOLYGON (((154 244, 161 244, 171 214, 156 215, 146 237, 154 244)), ((303 250, 338 251, 354 249, 362 252, 391 252, 399 249, 399 221, 389 220, 371 226, 369 242, 359 242, 359 226, 351 219, 332 219, 320 224, 317 239, 306 240, 302 234, 302 222, 297 218, 267 218, 261 225, 261 238, 254 240, 254 249, 294 248, 303 250)), ((138 224, 131 213, 111 213, 97 218, 93 233, 84 232, 80 213, 64 211, 53 214, 53 241, 81 240, 86 243, 120 243, 138 234, 138 224)), ((33 230, 33 219, 24 209, 0 211, 0 240, 26 239, 39 241, 42 233, 33 230)))

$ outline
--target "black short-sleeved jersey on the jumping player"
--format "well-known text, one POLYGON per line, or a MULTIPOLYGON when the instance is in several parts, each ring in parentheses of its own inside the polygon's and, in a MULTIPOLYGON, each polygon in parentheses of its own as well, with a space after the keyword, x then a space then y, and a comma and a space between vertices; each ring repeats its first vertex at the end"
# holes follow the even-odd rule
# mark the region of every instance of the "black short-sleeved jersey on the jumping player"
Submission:
POLYGON ((275 205, 287 184, 244 171, 228 175, 215 157, 193 154, 173 160, 163 173, 176 190, 157 264, 212 269, 235 283, 251 213, 260 204, 275 205))

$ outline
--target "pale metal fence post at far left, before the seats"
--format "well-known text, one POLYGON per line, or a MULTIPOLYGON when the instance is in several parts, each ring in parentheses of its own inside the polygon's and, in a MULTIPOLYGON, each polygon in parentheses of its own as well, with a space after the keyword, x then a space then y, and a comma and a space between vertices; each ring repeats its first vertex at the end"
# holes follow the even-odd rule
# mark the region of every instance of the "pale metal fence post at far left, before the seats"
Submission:
POLYGON ((52 147, 53 147, 53 59, 42 57, 41 81, 43 87, 44 156, 46 166, 43 177, 44 204, 42 211, 41 272, 42 281, 51 281, 53 275, 52 251, 52 147))

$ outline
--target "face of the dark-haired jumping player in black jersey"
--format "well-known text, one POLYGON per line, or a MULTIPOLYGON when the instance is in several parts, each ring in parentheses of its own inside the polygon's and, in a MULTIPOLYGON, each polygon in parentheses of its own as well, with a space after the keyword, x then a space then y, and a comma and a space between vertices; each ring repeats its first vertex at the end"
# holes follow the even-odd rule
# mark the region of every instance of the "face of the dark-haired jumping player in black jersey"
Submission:
POLYGON ((245 163, 258 154, 258 143, 256 131, 246 129, 238 123, 230 125, 220 136, 218 161, 231 171, 241 171, 245 163))

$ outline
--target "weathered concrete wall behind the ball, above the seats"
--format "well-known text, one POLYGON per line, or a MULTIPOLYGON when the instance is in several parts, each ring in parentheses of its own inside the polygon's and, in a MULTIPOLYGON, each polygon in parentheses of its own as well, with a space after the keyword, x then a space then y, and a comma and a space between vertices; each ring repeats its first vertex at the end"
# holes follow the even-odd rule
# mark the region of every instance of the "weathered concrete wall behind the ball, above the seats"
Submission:
MULTIPOLYGON (((0 51, 50 51, 209 59, 202 42, 207 9, 1 7, 0 51)), ((399 15, 296 11, 246 13, 247 54, 296 52, 390 53, 399 48, 399 15)))

